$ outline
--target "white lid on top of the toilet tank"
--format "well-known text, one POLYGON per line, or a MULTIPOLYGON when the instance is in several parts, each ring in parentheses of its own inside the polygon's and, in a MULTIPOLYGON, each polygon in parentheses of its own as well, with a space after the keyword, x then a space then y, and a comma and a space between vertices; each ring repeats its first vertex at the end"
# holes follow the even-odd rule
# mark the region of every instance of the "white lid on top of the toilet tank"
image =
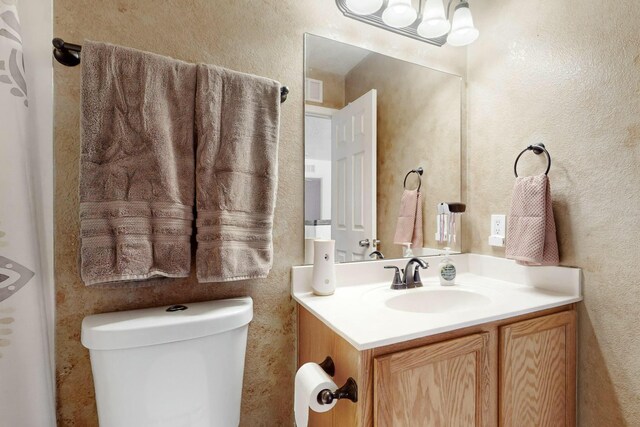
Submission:
POLYGON ((95 314, 82 321, 81 340, 91 350, 145 347, 219 334, 252 318, 251 297, 95 314))

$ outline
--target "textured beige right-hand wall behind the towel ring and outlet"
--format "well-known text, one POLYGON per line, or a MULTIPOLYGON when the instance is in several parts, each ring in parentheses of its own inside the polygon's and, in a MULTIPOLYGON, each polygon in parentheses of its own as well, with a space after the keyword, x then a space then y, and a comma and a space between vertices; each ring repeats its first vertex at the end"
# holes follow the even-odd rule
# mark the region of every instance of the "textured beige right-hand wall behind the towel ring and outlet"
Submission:
MULTIPOLYGON (((472 3, 468 48, 471 250, 507 213, 513 161, 544 142, 561 262, 584 271, 581 426, 640 425, 640 3, 472 3)), ((544 170, 528 153, 522 174, 544 170)))

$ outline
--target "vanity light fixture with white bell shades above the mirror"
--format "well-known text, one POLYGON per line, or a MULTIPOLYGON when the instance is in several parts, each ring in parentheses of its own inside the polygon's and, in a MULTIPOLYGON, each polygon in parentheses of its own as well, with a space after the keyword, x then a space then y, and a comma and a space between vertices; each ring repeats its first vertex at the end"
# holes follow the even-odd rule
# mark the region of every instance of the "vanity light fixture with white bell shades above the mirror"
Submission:
POLYGON ((436 46, 466 46, 480 34, 467 0, 459 0, 451 21, 449 0, 336 0, 347 17, 436 46), (418 10, 414 8, 418 6, 418 10))

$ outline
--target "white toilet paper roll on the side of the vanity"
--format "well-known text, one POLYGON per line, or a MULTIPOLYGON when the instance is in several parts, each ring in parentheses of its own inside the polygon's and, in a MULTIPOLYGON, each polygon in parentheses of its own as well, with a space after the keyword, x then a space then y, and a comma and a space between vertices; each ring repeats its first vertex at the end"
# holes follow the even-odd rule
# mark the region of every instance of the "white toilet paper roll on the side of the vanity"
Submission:
POLYGON ((336 391, 338 386, 317 363, 305 363, 296 372, 293 397, 293 412, 297 427, 307 427, 309 408, 315 412, 327 412, 336 405, 337 399, 328 405, 318 403, 318 393, 325 388, 336 391))

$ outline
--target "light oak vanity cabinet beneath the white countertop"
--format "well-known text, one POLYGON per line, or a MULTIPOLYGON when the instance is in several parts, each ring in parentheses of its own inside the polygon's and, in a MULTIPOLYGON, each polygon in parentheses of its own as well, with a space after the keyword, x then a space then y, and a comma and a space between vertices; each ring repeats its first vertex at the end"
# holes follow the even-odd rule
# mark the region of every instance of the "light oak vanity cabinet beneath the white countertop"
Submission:
POLYGON ((312 427, 575 426, 574 305, 365 351, 298 306, 298 366, 328 355, 358 402, 312 427))

